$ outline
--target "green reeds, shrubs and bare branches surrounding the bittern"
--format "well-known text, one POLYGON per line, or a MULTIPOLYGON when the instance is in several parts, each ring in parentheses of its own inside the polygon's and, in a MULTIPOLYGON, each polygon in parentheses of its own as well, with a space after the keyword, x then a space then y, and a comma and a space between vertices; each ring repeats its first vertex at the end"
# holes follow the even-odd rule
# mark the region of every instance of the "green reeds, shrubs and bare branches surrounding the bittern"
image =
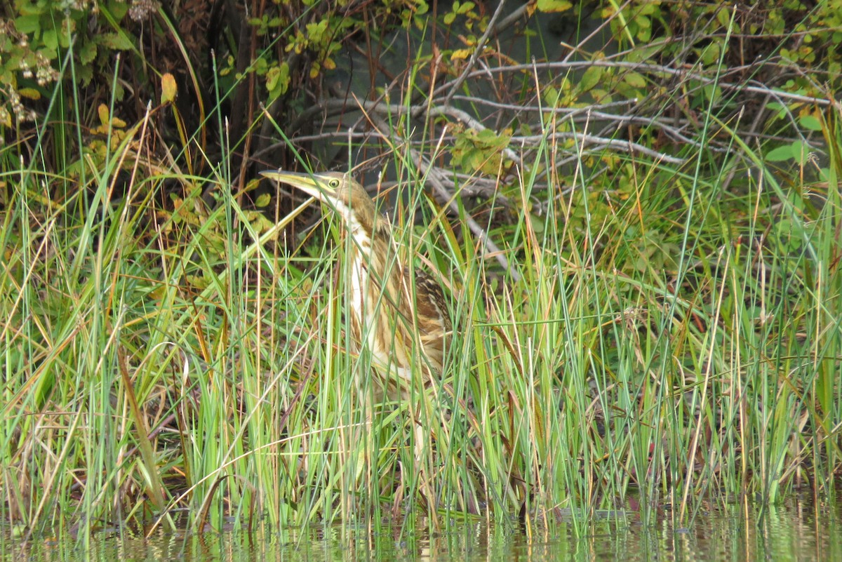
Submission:
POLYGON ((688 520, 833 488, 842 3, 2 9, 16 533, 688 520), (449 294, 424 459, 413 405, 354 388, 336 229, 258 183, 305 163, 392 189, 449 294))

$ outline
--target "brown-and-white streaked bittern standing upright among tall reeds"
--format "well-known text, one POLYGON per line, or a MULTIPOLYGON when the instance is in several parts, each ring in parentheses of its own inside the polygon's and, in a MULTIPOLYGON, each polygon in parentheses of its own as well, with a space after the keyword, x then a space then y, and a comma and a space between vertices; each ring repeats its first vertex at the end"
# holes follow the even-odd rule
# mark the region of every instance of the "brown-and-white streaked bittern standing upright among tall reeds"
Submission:
POLYGON ((348 314, 355 342, 367 346, 383 375, 376 398, 406 398, 413 372, 423 374, 424 386, 438 379, 451 331, 440 286, 400 262, 392 228, 365 188, 350 174, 337 172, 262 174, 328 204, 344 221, 346 236, 353 237, 345 256, 348 314))

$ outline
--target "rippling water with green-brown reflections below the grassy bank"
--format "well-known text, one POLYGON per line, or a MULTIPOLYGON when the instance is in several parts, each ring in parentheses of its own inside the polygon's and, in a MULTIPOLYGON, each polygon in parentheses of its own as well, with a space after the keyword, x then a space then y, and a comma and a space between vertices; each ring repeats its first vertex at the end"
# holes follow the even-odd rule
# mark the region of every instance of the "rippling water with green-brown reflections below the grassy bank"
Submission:
POLYGON ((264 527, 250 535, 102 534, 85 549, 69 539, 18 543, 4 528, 0 560, 840 560, 839 500, 795 496, 763 513, 754 506, 721 506, 698 514, 689 528, 674 525, 669 512, 648 527, 635 514, 593 522, 581 533, 574 522, 561 522, 552 530, 533 528, 531 539, 516 522, 469 522, 446 533, 416 534, 338 526, 264 527))

